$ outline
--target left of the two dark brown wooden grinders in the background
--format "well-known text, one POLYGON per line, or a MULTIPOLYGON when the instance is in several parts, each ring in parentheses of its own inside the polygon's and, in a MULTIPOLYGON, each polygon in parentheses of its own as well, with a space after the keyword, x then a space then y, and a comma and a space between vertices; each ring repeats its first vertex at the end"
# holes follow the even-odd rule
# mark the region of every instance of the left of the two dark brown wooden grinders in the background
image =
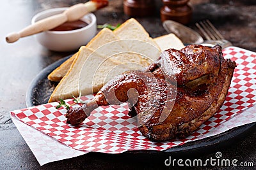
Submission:
POLYGON ((147 17, 155 13, 154 0, 124 0, 124 13, 131 17, 147 17))

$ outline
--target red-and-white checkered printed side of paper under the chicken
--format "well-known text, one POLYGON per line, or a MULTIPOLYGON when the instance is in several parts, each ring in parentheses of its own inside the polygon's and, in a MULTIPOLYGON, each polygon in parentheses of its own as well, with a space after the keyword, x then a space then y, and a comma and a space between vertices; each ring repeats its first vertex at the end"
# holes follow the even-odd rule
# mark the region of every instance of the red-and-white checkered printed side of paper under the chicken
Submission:
MULTIPOLYGON (((166 150, 189 141, 207 138, 234 127, 256 122, 256 53, 237 47, 223 50, 225 58, 237 63, 225 103, 198 131, 184 139, 161 143, 149 141, 136 128, 136 120, 127 113, 127 105, 97 108, 79 126, 66 124, 64 108, 47 103, 11 111, 21 122, 38 129, 64 145, 84 152, 122 153, 127 150, 166 150)), ((92 99, 92 95, 83 100, 92 99)), ((72 99, 66 100, 72 104, 72 99)), ((76 107, 78 105, 74 105, 76 107)))

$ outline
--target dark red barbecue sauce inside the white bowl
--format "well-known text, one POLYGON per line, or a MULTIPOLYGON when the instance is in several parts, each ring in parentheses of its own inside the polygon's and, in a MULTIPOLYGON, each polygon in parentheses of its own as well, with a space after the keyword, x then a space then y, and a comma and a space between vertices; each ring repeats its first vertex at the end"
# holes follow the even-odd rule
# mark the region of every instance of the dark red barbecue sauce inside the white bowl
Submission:
POLYGON ((87 25, 88 23, 84 22, 83 20, 76 20, 72 22, 65 22, 64 24, 61 24, 58 27, 51 29, 50 31, 72 31, 76 29, 81 29, 83 27, 86 27, 87 25))

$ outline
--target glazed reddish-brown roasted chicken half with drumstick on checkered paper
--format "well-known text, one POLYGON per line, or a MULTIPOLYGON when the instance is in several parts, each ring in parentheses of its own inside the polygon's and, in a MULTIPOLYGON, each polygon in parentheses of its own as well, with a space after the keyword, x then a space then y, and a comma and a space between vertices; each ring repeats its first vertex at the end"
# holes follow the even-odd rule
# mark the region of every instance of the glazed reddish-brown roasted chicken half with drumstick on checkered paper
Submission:
POLYGON ((221 47, 189 45, 164 51, 146 71, 127 71, 109 81, 67 123, 76 125, 99 106, 127 102, 141 133, 151 141, 184 138, 222 106, 236 63, 221 47))

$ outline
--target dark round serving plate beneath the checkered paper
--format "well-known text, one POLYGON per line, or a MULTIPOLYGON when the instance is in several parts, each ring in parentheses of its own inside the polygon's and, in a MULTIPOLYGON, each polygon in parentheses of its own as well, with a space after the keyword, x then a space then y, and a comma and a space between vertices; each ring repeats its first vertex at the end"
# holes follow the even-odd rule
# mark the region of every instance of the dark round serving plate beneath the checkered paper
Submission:
MULTIPOLYGON (((69 55, 63 59, 60 59, 51 65, 45 67, 35 78, 31 81, 29 89, 26 94, 26 105, 36 106, 39 104, 47 103, 49 97, 51 96, 54 87, 58 83, 51 82, 47 79, 49 73, 51 73, 56 67, 60 66, 65 60, 69 59, 72 55, 69 55)), ((138 151, 129 151, 125 152, 128 154, 136 153, 138 155, 143 153, 175 153, 175 154, 190 154, 195 152, 205 152, 205 150, 216 150, 218 147, 225 147, 234 143, 234 140, 244 138, 244 136, 248 133, 250 129, 255 129, 256 123, 243 125, 240 127, 236 127, 230 129, 229 131, 223 132, 216 136, 212 136, 209 138, 200 139, 198 141, 192 141, 189 143, 185 143, 182 146, 175 146, 173 148, 169 148, 168 150, 164 150, 163 152, 157 152, 153 150, 138 150, 138 151)), ((150 154, 150 155, 152 155, 150 154)), ((143 154, 145 155, 145 154, 143 154)))

